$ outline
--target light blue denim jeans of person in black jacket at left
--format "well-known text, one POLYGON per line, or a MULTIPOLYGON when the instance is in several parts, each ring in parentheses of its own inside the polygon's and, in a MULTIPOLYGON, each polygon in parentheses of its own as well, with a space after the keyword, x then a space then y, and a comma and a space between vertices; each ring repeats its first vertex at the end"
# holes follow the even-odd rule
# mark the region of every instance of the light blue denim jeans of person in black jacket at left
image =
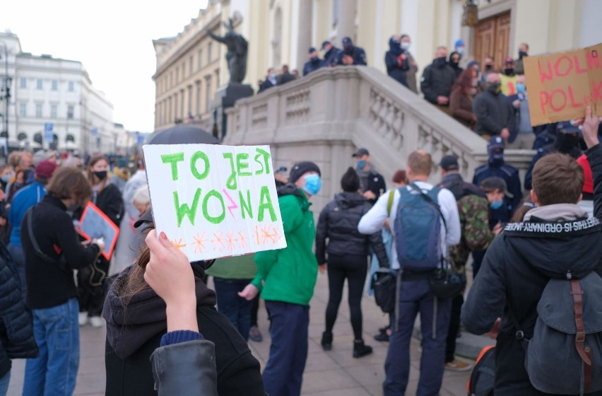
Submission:
POLYGON ((33 310, 33 334, 40 356, 27 359, 23 396, 72 395, 79 366, 77 298, 33 310))

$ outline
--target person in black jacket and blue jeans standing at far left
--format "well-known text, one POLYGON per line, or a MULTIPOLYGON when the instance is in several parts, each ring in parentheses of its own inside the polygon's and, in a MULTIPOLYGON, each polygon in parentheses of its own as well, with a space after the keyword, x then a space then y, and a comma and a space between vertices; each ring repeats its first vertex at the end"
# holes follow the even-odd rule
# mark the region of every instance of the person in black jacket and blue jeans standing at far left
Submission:
POLYGON ((74 168, 60 168, 47 194, 21 223, 25 253, 26 305, 33 314, 40 356, 25 364, 23 395, 71 395, 79 366, 78 301, 73 270, 95 262, 105 243, 78 243, 71 216, 90 200, 92 189, 74 168))

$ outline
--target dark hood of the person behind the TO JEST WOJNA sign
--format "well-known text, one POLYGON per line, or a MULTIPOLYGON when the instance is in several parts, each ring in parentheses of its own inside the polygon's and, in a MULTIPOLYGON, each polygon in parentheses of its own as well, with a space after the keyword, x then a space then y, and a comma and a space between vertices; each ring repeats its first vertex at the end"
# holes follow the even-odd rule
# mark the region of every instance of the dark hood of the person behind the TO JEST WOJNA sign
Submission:
MULTIPOLYGON (((192 265, 196 281, 196 304, 216 305, 216 293, 208 289, 201 280, 204 271, 195 264, 192 265)), ((117 356, 126 359, 140 349, 149 339, 167 331, 165 302, 155 291, 148 289, 136 294, 124 308, 124 298, 117 293, 127 280, 136 264, 124 269, 111 284, 102 317, 107 321, 107 339, 117 356)))

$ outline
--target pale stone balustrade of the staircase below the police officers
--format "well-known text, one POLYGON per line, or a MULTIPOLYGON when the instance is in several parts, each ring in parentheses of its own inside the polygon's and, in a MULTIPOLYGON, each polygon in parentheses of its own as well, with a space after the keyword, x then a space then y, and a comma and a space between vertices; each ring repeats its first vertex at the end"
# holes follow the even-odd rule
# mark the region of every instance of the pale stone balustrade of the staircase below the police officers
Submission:
MULTIPOLYGON (((340 66, 238 100, 226 110, 224 144, 269 144, 273 164, 290 168, 314 161, 322 170, 318 206, 340 190, 339 180, 354 165, 356 148, 370 151, 372 164, 389 180, 417 148, 459 158, 461 173, 472 180, 487 160, 486 142, 389 76, 370 67, 340 66)), ((507 151, 510 163, 524 169, 533 151, 507 151)), ((434 169, 432 182, 441 176, 434 169)))

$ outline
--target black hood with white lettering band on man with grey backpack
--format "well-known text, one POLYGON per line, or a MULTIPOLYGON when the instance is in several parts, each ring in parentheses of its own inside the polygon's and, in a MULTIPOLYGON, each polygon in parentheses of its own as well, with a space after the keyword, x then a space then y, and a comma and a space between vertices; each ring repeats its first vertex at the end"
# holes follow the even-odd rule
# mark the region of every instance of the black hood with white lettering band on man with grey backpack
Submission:
POLYGON ((502 235, 545 276, 582 279, 600 265, 600 221, 587 218, 576 204, 546 205, 531 209, 522 223, 509 223, 502 235))

